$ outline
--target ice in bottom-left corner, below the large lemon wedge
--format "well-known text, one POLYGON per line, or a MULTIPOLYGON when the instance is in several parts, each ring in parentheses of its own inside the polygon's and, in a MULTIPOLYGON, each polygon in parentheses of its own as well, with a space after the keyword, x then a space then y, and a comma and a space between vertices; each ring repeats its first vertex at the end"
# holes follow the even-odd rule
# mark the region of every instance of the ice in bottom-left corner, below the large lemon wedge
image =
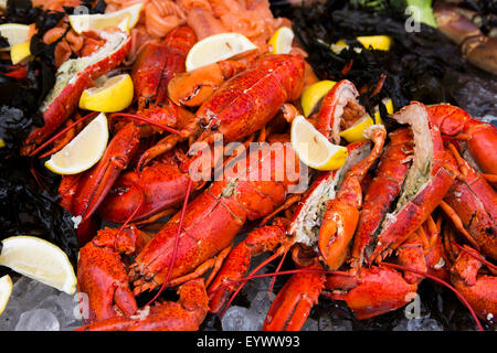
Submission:
POLYGON ((76 296, 28 277, 15 281, 0 315, 0 331, 68 331, 81 325, 76 296))

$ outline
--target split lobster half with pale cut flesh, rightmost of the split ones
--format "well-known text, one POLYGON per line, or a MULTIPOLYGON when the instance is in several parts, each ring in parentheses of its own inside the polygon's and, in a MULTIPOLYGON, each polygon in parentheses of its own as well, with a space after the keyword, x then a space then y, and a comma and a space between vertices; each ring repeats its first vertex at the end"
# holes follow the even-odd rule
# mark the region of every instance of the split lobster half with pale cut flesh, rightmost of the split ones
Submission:
POLYGON ((432 126, 430 113, 421 103, 411 103, 393 115, 409 124, 413 132, 414 157, 395 210, 385 215, 371 259, 379 260, 398 248, 441 203, 455 173, 447 162, 440 130, 432 126))

